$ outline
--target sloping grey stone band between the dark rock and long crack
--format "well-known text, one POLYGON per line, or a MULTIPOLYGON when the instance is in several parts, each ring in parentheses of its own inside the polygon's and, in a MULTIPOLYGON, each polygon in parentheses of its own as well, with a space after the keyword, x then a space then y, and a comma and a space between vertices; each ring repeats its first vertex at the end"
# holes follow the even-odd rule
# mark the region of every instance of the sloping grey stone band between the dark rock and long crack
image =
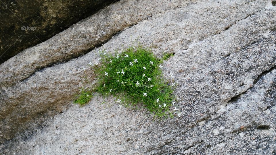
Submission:
MULTIPOLYGON (((90 52, 114 34, 156 13, 186 6, 191 1, 119 1, 67 30, 26 49, 0 65, 0 86, 13 86, 44 67, 90 52)), ((0 89, 1 89, 0 88, 0 89)))

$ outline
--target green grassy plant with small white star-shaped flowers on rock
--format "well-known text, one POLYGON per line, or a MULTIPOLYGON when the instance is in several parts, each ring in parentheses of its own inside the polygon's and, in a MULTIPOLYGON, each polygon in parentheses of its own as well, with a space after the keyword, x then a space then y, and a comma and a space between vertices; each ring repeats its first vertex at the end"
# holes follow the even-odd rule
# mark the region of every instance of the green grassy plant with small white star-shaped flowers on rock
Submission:
POLYGON ((175 103, 176 84, 165 82, 163 60, 150 49, 131 46, 120 54, 99 51, 97 55, 99 65, 89 62, 98 80, 95 92, 105 97, 113 95, 116 102, 127 107, 143 104, 156 117, 173 117, 170 107, 175 103))

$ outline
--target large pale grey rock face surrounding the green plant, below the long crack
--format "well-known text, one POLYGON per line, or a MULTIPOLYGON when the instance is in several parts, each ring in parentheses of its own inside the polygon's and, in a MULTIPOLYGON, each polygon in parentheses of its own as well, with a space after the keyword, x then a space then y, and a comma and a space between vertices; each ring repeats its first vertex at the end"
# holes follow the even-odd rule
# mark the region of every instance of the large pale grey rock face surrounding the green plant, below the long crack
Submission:
POLYGON ((156 13, 101 47, 112 52, 130 44, 132 36, 158 57, 174 52, 163 72, 179 82, 175 107, 180 118, 152 121, 147 111, 120 107, 111 98, 110 104, 99 105, 101 97, 64 110, 82 86, 81 77, 88 74, 93 81, 91 70, 81 68, 97 61, 95 49, 3 90, 1 139, 15 133, 28 139, 18 136, 2 144, 2 152, 275 154, 276 7, 271 4, 195 2, 156 13), (37 115, 51 111, 63 113, 43 124, 47 117, 37 115), (33 133, 22 133, 32 127, 33 133))

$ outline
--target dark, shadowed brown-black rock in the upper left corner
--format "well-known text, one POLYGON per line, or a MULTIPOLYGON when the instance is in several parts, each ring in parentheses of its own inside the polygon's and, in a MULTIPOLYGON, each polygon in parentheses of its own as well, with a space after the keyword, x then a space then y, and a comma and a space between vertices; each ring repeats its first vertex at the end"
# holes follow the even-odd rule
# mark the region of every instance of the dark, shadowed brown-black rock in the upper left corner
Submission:
POLYGON ((112 2, 114 0, 1 1, 0 64, 112 2))

